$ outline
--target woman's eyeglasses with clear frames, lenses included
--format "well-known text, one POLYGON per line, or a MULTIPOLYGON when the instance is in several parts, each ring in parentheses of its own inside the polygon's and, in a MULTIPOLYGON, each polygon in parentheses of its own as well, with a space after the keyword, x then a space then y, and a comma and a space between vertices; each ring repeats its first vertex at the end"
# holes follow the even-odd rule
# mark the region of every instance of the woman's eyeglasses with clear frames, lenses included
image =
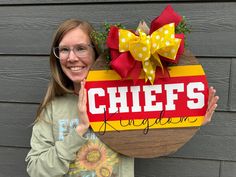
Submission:
POLYGON ((91 47, 93 48, 91 44, 77 44, 72 47, 59 46, 53 47, 53 53, 60 60, 68 59, 71 51, 73 51, 78 58, 84 58, 88 57, 91 47))

